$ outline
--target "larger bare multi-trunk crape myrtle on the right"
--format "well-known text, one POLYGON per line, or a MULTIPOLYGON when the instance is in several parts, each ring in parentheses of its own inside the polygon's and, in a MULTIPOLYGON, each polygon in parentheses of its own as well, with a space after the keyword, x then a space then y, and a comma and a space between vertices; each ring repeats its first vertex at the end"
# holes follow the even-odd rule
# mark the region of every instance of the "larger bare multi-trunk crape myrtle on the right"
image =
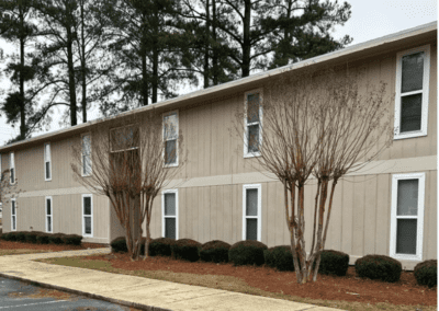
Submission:
POLYGON ((283 185, 294 269, 297 283, 305 284, 317 280, 337 183, 376 159, 393 141, 389 111, 393 95, 385 83, 367 83, 367 74, 358 71, 285 76, 266 84, 263 97, 248 95, 234 125, 256 156, 251 165, 274 174, 283 185), (360 88, 357 81, 364 83, 360 88), (246 118, 254 119, 257 113, 258 130, 243 130, 246 118), (313 241, 306 250, 304 189, 311 183, 317 184, 317 191, 313 241))

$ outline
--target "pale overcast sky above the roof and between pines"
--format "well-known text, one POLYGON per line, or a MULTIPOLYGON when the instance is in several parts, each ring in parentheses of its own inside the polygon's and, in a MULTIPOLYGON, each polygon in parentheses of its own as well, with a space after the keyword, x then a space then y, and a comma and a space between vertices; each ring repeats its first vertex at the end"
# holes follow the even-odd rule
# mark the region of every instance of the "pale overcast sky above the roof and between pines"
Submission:
MULTIPOLYGON (((348 34, 353 37, 351 45, 437 21, 437 0, 348 0, 348 2, 352 5, 352 15, 345 26, 335 28, 334 36, 340 38, 348 34)), ((0 45, 4 47, 4 42, 0 41, 0 45)), ((11 46, 8 46, 5 51, 12 51, 11 46)), ((4 79, 0 80, 0 83, 4 83, 4 79)), ((191 91, 195 89, 184 89, 180 93, 191 91)), ((49 131, 60 128, 57 115, 60 113, 55 111, 49 131)), ((93 110, 89 112, 88 117, 93 119, 100 115, 97 110, 93 110)), ((14 129, 11 128, 5 123, 5 118, 0 117, 0 146, 16 136, 20 133, 19 127, 20 125, 14 129)), ((32 136, 41 134, 44 133, 32 136)))

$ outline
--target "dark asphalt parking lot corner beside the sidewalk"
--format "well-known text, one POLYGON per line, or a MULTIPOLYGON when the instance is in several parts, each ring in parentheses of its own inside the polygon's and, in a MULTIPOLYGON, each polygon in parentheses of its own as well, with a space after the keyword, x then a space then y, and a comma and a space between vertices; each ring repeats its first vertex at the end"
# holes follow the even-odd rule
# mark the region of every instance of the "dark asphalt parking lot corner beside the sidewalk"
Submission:
POLYGON ((0 277, 0 311, 136 311, 111 302, 0 277))

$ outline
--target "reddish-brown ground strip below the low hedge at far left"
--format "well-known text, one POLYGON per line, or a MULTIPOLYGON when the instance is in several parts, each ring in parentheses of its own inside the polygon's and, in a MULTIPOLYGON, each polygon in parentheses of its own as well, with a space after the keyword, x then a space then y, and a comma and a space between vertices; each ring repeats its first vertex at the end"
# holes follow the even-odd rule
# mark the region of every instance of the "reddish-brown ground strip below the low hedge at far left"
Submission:
POLYGON ((44 252, 79 251, 87 249, 102 249, 104 244, 81 243, 81 245, 66 244, 34 244, 0 240, 0 256, 14 254, 32 254, 44 252))

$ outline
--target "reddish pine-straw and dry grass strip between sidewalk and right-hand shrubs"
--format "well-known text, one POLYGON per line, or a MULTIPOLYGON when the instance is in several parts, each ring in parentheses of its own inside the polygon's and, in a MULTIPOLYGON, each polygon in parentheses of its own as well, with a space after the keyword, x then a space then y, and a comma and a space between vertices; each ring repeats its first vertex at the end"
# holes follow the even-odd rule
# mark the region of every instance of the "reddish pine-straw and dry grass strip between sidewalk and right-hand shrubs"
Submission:
POLYGON ((347 277, 319 276, 297 285, 291 272, 232 264, 189 263, 168 257, 131 262, 126 254, 38 260, 38 262, 133 275, 215 289, 285 299, 341 310, 437 310, 437 288, 413 284, 406 273, 398 284, 359 279, 350 267, 347 277), (420 296, 420 297, 419 297, 420 296))

